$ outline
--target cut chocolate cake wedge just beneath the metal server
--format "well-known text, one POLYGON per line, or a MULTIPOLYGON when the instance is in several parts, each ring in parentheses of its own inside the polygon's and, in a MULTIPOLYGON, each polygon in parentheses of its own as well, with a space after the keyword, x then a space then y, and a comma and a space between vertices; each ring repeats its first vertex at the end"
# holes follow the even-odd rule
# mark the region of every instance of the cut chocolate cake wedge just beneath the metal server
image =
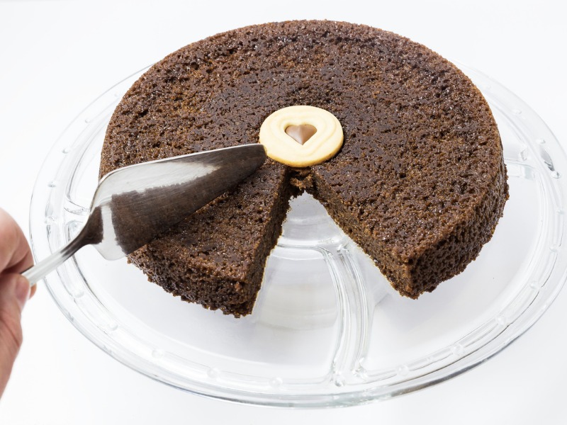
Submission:
POLYGON ((290 190, 288 170, 272 162, 128 258, 183 300, 248 314, 281 234, 290 190))

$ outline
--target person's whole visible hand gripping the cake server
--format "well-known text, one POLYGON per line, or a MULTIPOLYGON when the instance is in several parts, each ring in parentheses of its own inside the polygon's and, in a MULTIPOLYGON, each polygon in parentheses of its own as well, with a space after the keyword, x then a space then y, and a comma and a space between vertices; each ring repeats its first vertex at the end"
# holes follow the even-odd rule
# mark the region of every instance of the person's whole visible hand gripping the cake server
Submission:
POLYGON ((21 312, 31 293, 30 283, 20 273, 31 266, 26 237, 0 208, 0 397, 22 344, 21 312))

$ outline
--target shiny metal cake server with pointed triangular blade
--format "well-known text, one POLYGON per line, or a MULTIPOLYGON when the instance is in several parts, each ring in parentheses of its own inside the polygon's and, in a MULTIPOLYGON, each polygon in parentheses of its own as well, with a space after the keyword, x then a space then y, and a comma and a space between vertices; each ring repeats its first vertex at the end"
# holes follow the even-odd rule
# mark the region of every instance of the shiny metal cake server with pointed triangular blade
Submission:
POLYGON ((112 171, 96 188, 77 237, 22 274, 35 285, 89 244, 105 259, 120 259, 235 186, 265 159, 263 145, 240 145, 112 171))

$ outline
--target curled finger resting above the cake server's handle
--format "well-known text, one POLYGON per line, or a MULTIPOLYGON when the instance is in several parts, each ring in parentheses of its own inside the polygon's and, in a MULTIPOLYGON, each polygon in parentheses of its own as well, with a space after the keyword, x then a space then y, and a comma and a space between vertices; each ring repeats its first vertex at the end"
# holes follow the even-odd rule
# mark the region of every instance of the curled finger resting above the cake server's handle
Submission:
POLYGON ((0 271, 21 273, 33 266, 30 246, 21 228, 0 208, 0 271))

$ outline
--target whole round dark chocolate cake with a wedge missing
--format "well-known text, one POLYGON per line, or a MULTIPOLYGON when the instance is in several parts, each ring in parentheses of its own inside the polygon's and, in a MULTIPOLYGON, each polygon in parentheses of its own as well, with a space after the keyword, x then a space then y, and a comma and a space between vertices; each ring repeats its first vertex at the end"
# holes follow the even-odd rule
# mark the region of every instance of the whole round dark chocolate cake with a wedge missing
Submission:
POLYGON ((150 280, 210 309, 249 314, 288 200, 305 190, 408 297, 463 271, 492 237, 507 183, 483 96, 427 47, 350 23, 249 26, 165 57, 116 108, 101 176, 256 143, 266 117, 295 105, 335 115, 339 152, 303 169, 268 159, 129 256, 150 280))

